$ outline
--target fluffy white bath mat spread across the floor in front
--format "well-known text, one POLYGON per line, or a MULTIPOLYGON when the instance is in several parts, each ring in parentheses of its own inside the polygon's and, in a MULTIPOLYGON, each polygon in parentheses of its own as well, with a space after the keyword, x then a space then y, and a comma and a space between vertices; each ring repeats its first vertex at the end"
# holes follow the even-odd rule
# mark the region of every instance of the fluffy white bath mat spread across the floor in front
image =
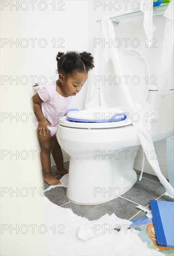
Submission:
POLYGON ((71 209, 53 204, 47 197, 42 197, 42 199, 45 204, 50 256, 163 255, 158 250, 148 249, 147 243, 143 243, 136 234, 137 230, 126 227, 116 232, 116 230, 112 231, 112 228, 106 230, 109 227, 105 226, 104 229, 102 226, 102 233, 83 241, 77 237, 78 230, 85 224, 90 225, 91 222, 86 218, 77 216, 71 209))

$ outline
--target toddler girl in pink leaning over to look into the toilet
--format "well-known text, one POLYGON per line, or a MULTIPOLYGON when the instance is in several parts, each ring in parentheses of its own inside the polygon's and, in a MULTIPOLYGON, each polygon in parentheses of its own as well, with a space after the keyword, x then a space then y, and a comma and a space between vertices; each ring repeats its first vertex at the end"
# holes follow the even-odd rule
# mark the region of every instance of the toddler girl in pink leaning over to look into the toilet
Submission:
POLYGON ((49 185, 58 185, 51 171, 51 151, 57 167, 57 173, 64 175, 61 148, 56 138, 58 120, 65 115, 72 97, 80 92, 88 78, 88 71, 94 67, 94 58, 87 52, 58 52, 58 80, 41 88, 32 96, 35 123, 40 145, 40 158, 44 170, 44 181, 49 185))

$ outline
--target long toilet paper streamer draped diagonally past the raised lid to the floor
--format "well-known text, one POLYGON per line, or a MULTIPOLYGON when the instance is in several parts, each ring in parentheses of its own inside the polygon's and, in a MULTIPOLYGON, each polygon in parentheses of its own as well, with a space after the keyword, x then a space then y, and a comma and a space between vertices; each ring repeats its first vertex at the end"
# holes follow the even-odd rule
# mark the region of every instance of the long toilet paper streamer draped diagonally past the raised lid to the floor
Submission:
MULTIPOLYGON (((102 23, 99 24, 99 29, 101 29, 101 28, 102 28, 102 32, 103 32, 105 41, 109 41, 109 39, 111 39, 111 41, 113 41, 116 38, 114 27, 113 27, 112 22, 110 21, 109 16, 103 17, 102 23)), ((123 77, 124 74, 123 74, 122 66, 121 66, 121 63, 120 63, 120 60, 119 60, 119 57, 117 54, 117 47, 114 47, 113 45, 111 45, 111 47, 109 47, 107 44, 106 48, 102 48, 102 51, 100 51, 100 53, 99 53, 99 50, 97 50, 97 53, 99 55, 98 56, 95 55, 95 58, 96 58, 95 60, 97 60, 98 69, 102 63, 102 62, 100 62, 100 60, 98 60, 98 58, 100 59, 102 56, 103 61, 104 61, 104 58, 105 58, 104 55, 107 55, 108 56, 107 58, 111 58, 111 61, 113 62, 115 74, 123 77), (105 50, 107 50, 107 53, 104 52, 105 50), (103 51, 103 54, 102 54, 102 51, 103 51)), ((139 109, 136 107, 135 102, 132 100, 132 97, 129 93, 129 88, 125 84, 124 80, 121 81, 121 86, 119 88, 121 90, 122 95, 124 96, 124 98, 126 100, 126 104, 127 104, 126 111, 128 111, 130 113, 130 115, 132 115, 133 113, 138 113, 141 117, 139 122, 132 121, 132 124, 134 125, 134 127, 136 129, 136 134, 137 134, 137 137, 142 145, 143 151, 145 152, 146 150, 148 150, 148 152, 149 152, 149 157, 147 160, 148 160, 149 164, 151 165, 151 167, 153 168, 153 170, 155 171, 155 174, 158 176, 160 182, 165 187, 166 195, 174 198, 174 189, 169 184, 169 182, 165 179, 165 177, 162 175, 157 158, 151 159, 152 155, 150 154, 150 152, 153 152, 153 153, 155 152, 153 141, 146 129, 147 128, 146 122, 145 122, 144 118, 142 117, 141 112, 139 112, 139 109)), ((92 98, 92 95, 90 98, 92 98)))

